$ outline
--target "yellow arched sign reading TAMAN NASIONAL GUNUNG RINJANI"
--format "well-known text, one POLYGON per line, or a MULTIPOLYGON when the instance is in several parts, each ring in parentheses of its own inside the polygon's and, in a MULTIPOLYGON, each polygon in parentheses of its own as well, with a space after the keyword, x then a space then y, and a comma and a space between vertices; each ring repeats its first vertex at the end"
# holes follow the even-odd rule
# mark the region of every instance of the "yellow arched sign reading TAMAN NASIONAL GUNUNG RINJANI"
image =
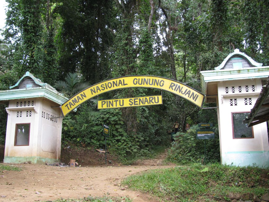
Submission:
POLYGON ((198 107, 202 107, 204 102, 203 94, 187 85, 184 85, 183 83, 174 81, 172 79, 159 76, 124 76, 94 84, 89 88, 77 93, 67 102, 61 105, 63 116, 71 112, 86 100, 89 100, 102 93, 122 88, 161 89, 183 97, 198 107))

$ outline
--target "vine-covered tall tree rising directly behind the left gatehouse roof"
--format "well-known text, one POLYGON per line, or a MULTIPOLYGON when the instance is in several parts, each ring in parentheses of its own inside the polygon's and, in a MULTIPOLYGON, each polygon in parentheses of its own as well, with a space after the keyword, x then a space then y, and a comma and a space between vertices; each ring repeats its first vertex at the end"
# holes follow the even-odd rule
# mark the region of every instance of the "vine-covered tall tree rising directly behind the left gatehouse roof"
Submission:
POLYGON ((19 76, 30 71, 41 80, 54 83, 57 67, 56 47, 53 45, 51 2, 49 0, 8 0, 7 2, 7 28, 4 34, 5 40, 13 43, 13 69, 19 76), (47 10, 49 20, 46 22, 43 16, 46 16, 47 10), (45 29, 49 27, 46 33, 45 29))

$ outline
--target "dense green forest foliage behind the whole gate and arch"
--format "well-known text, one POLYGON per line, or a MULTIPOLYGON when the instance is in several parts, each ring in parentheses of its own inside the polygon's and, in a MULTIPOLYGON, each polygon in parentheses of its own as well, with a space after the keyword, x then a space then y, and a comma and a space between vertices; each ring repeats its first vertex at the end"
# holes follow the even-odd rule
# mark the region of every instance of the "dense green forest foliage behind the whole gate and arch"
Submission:
MULTIPOLYGON (((200 71, 218 66, 235 48, 268 64, 266 0, 7 2, 6 27, 0 40, 0 90, 14 85, 26 71, 67 96, 77 92, 78 86, 66 82, 72 75, 73 79, 77 76, 79 86, 118 76, 156 75, 200 90, 200 71)), ((160 90, 125 89, 98 99, 158 94, 160 90)), ((204 112, 180 97, 162 95, 161 106, 98 111, 96 100, 84 103, 64 118, 62 139, 102 148, 104 136, 100 133, 102 123, 107 122, 111 126, 109 147, 122 151, 122 158, 130 158, 147 155, 156 145, 168 145, 166 131, 175 120, 183 139, 186 123, 213 121, 217 126, 217 119, 211 120, 216 117, 214 110, 204 112)), ((0 105, 2 128, 5 107, 0 105)), ((2 130, 2 142, 4 134, 2 130)), ((185 146, 194 149, 192 158, 196 156, 197 161, 200 148, 187 142, 185 146)), ((218 144, 211 146, 209 153, 218 151, 218 144)))

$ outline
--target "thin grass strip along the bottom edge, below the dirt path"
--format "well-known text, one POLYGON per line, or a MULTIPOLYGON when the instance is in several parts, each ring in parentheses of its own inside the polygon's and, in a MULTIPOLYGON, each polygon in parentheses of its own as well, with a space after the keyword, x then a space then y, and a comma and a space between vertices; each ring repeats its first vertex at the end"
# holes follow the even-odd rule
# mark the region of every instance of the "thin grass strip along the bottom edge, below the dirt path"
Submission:
MULTIPOLYGON (((82 199, 58 199, 52 202, 131 202, 132 200, 129 199, 128 197, 108 197, 108 196, 103 196, 103 197, 84 197, 82 199)), ((43 201, 43 202, 48 202, 48 201, 43 201)), ((51 202, 51 201, 49 201, 51 202)))

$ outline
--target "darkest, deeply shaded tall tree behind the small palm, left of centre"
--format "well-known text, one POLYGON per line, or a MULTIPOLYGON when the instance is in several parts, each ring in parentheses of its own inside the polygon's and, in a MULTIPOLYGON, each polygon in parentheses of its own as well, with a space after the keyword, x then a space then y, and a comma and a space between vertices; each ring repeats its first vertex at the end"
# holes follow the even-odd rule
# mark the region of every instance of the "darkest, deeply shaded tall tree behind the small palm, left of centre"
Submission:
POLYGON ((109 74, 108 60, 113 43, 113 1, 58 1, 62 28, 57 36, 61 78, 81 72, 86 81, 97 83, 109 74))

